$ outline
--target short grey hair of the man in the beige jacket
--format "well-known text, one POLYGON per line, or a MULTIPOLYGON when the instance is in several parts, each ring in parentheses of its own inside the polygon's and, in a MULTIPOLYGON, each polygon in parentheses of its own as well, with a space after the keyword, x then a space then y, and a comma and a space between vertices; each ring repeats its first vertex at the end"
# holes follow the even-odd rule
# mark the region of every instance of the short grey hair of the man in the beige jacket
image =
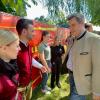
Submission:
POLYGON ((77 20, 77 22, 85 22, 85 18, 84 18, 84 15, 80 14, 80 13, 74 13, 74 14, 71 14, 67 17, 68 20, 71 20, 75 18, 77 20))

